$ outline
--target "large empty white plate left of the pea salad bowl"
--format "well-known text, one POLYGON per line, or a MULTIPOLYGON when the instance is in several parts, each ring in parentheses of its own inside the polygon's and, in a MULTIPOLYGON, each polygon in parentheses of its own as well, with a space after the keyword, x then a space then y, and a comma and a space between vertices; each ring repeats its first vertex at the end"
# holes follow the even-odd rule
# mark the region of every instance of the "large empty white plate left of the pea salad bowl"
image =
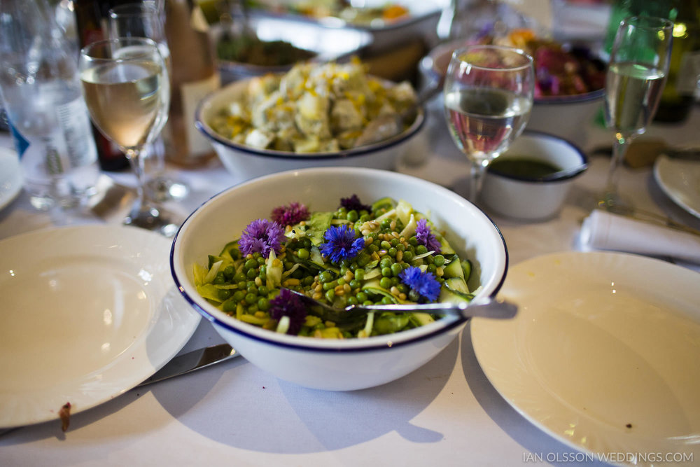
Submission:
POLYGON ((174 286, 170 246, 122 225, 0 242, 0 428, 94 407, 177 354, 200 316, 174 286))

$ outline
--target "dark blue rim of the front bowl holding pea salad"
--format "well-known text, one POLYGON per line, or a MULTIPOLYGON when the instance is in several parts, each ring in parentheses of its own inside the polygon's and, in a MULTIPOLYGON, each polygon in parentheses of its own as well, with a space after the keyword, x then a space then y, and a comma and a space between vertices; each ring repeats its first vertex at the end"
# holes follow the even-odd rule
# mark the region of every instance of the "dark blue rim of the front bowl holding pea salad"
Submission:
MULTIPOLYGON (((310 169, 300 169, 300 170, 279 172, 277 174, 267 174, 267 175, 258 176, 255 179, 245 181, 245 182, 240 183, 239 185, 233 186, 231 188, 226 188, 225 190, 210 197, 209 200, 200 204, 200 206, 197 207, 197 209, 195 209, 194 211, 192 211, 190 213, 190 215, 180 225, 180 228, 178 229, 175 236, 173 237, 172 246, 170 247, 170 273, 172 274, 172 278, 175 282, 175 285, 176 285, 178 291, 180 292, 182 297, 186 300, 186 302, 188 302, 191 307, 193 307, 195 310, 197 310, 197 312, 199 314, 201 314, 204 317, 204 319, 207 319, 207 321, 211 322, 212 324, 221 326, 222 328, 225 328, 225 330, 228 330, 232 333, 241 335, 242 337, 246 337, 247 339, 255 340, 257 342, 266 342, 267 344, 272 344, 276 347, 283 347, 283 348, 287 348, 287 349, 295 349, 295 350, 303 350, 303 351, 311 351, 311 352, 322 352, 322 353, 326 353, 326 354, 328 354, 328 353, 330 353, 330 354, 346 354, 346 353, 352 353, 352 352, 358 352, 358 351, 376 351, 379 349, 404 347, 405 345, 415 344, 416 342, 421 342, 423 340, 430 339, 432 337, 435 337, 435 335, 447 333, 449 330, 452 330, 452 329, 456 328, 457 326, 461 326, 463 323, 466 323, 469 320, 468 318, 446 317, 446 318, 443 318, 440 320, 440 321, 444 322, 444 325, 440 326, 439 328, 436 328, 435 330, 431 331, 430 333, 421 334, 421 335, 418 335, 416 337, 412 337, 412 338, 406 339, 406 340, 400 340, 399 342, 388 341, 388 342, 382 342, 382 343, 376 343, 376 344, 370 343, 367 345, 363 345, 361 347, 356 346, 356 347, 350 347, 350 348, 342 348, 342 347, 341 348, 323 348, 323 347, 314 347, 311 345, 307 345, 307 344, 304 344, 304 342, 300 342, 298 344, 297 343, 290 343, 290 342, 276 342, 275 340, 267 339, 266 337, 263 337, 262 335, 255 335, 253 333, 248 333, 244 329, 239 329, 235 326, 231 326, 229 323, 226 323, 225 321, 218 319, 216 316, 209 313, 206 309, 200 307, 200 305, 198 305, 197 302, 195 302, 195 300, 192 297, 190 297, 190 295, 187 293, 187 291, 183 287, 182 282, 180 281, 180 279, 178 278, 178 276, 175 272, 175 264, 174 264, 175 263, 175 260, 174 260, 175 254, 174 253, 175 253, 176 245, 178 244, 178 237, 180 235, 181 230, 187 225, 188 221, 190 221, 190 218, 192 216, 194 216, 195 213, 197 213, 197 211, 202 209, 202 207, 204 207, 205 204, 208 204, 209 202, 214 200, 216 197, 222 196, 224 193, 228 192, 229 190, 232 190, 232 189, 237 188, 239 186, 244 186, 244 185, 248 185, 250 183, 255 183, 255 181, 258 181, 259 179, 263 179, 263 178, 266 178, 269 176, 282 176, 283 174, 288 173, 288 172, 307 172, 307 171, 313 171, 313 170, 317 170, 317 169, 319 169, 319 167, 310 168, 310 169)), ((362 169, 362 170, 372 171, 372 172, 383 172, 379 169, 362 169)), ((411 176, 405 175, 405 174, 401 174, 401 175, 411 177, 411 176)), ((421 181, 423 181, 425 183, 432 183, 432 182, 425 181, 425 180, 421 180, 421 181)), ((435 188, 438 190, 447 190, 447 188, 444 188, 444 187, 439 186, 439 185, 435 185, 435 188)), ((483 216, 485 216, 489 220, 489 222, 491 222, 491 224, 493 225, 493 228, 495 228, 496 232, 498 232, 498 236, 500 237, 500 243, 503 245, 503 255, 504 255, 503 274, 501 274, 501 277, 498 280, 498 284, 496 284, 496 286, 493 288, 493 292, 491 292, 491 295, 489 295, 491 298, 493 298, 493 297, 496 297, 496 294, 498 293, 498 291, 500 291, 500 288, 502 288, 503 284, 505 283, 505 277, 506 277, 507 272, 508 272, 508 264, 510 263, 510 257, 508 255, 508 247, 507 247, 507 244, 505 243, 505 237, 503 237, 503 232, 501 232, 500 229, 498 228, 498 225, 496 225, 496 223, 493 222, 493 219, 491 218, 491 216, 486 214, 484 211, 482 211, 482 209, 480 209, 476 205, 472 204, 472 206, 475 209, 477 209, 479 212, 481 212, 481 214, 483 216)), ((232 319, 235 319, 235 318, 232 318, 232 319)), ((436 322, 439 323, 440 321, 436 321, 436 322)), ((241 324, 241 328, 244 327, 243 325, 253 326, 253 325, 250 325, 248 323, 243 323, 243 322, 241 322, 240 324, 241 324)), ((255 328, 255 329, 258 329, 258 328, 255 328)), ((269 331, 269 332, 272 333, 272 331, 269 331)), ((272 333, 272 335, 274 335, 274 333, 272 333)), ((297 338, 300 341, 302 341, 304 339, 303 337, 297 337, 297 338)))

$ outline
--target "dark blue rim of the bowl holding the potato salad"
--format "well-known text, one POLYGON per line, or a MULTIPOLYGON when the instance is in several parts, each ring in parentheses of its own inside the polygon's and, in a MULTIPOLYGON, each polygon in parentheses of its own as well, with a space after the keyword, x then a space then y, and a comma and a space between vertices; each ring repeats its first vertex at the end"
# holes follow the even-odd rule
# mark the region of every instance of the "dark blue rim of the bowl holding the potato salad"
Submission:
MULTIPOLYGON (((252 78, 252 77, 251 77, 252 78)), ((217 134, 214 130, 209 127, 204 121, 202 121, 202 109, 204 106, 211 102, 219 90, 210 92, 207 97, 202 99, 200 104, 197 104, 197 111, 195 111, 195 127, 200 130, 204 137, 216 141, 218 144, 222 144, 228 148, 234 149, 241 153, 246 153, 248 155, 254 155, 259 158, 270 158, 270 159, 287 159, 287 160, 325 160, 325 159, 349 159, 357 158, 363 155, 372 155, 378 151, 384 151, 388 148, 401 144, 409 138, 414 137, 426 123, 426 109, 425 106, 421 106, 419 112, 417 112, 416 119, 404 132, 397 134, 394 137, 386 139, 384 141, 379 141, 375 144, 367 144, 367 146, 361 146, 360 148, 350 148, 343 149, 334 153, 290 153, 287 151, 273 151, 271 149, 256 149, 250 146, 245 146, 244 144, 237 144, 228 138, 222 137, 217 134)))

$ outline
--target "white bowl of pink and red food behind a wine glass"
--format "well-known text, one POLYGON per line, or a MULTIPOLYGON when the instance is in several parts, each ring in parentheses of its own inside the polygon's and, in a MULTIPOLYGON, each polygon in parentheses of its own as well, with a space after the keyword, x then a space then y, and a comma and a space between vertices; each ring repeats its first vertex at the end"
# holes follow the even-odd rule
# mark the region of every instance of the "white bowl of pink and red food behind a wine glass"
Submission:
POLYGON ((441 81, 452 52, 474 41, 522 48, 533 57, 537 86, 526 129, 585 144, 585 129, 602 109, 605 87, 605 64, 589 46, 538 39, 529 31, 515 31, 501 39, 449 41, 421 60, 419 69, 426 84, 441 81))

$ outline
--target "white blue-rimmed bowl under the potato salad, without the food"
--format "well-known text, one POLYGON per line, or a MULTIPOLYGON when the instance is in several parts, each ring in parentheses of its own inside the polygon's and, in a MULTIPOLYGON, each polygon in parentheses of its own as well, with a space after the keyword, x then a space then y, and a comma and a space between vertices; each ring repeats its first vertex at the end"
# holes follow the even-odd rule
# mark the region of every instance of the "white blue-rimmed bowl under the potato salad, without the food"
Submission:
POLYGON ((209 122, 223 107, 240 99, 248 87, 249 79, 235 81, 207 96, 200 103, 195 116, 195 125, 211 141, 224 167, 239 181, 258 176, 307 167, 369 167, 393 169, 398 158, 411 151, 425 123, 425 113, 419 110, 413 125, 405 132, 377 144, 336 153, 297 154, 269 149, 256 149, 237 144, 221 137, 211 129, 209 122))

